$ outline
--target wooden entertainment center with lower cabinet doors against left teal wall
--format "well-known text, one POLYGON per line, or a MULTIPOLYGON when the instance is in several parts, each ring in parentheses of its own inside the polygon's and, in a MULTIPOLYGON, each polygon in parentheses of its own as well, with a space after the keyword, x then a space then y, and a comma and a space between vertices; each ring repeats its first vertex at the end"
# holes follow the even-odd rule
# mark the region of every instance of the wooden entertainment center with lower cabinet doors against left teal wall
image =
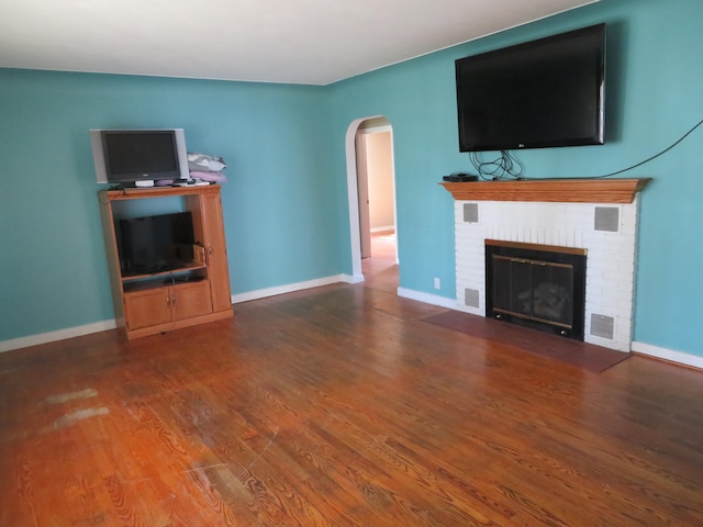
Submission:
POLYGON ((118 326, 127 338, 156 335, 233 316, 220 186, 154 187, 98 193, 118 326), (202 261, 168 271, 123 276, 115 202, 181 198, 192 214, 202 261))

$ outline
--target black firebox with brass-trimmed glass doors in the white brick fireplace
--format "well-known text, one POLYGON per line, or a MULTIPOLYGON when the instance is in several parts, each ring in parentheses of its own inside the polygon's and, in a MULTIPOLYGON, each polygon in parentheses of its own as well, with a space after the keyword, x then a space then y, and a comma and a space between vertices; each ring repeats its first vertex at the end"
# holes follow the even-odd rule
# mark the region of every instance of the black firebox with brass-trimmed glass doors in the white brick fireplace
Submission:
POLYGON ((486 316, 583 340, 585 249, 486 240, 486 316))

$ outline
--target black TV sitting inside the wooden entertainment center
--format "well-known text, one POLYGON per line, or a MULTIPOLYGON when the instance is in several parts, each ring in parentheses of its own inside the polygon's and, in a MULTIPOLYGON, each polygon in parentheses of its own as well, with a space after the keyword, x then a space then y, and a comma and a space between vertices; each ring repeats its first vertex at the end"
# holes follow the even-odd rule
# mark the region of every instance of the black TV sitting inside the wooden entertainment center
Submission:
POLYGON ((193 260, 190 212, 120 221, 122 273, 147 274, 182 268, 193 260))

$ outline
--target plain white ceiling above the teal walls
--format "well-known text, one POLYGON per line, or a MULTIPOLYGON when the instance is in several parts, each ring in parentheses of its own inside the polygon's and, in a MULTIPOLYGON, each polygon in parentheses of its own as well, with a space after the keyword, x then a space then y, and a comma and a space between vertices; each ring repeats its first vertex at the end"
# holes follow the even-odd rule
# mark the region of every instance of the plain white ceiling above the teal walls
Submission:
POLYGON ((328 85, 598 0, 0 0, 0 67, 328 85))

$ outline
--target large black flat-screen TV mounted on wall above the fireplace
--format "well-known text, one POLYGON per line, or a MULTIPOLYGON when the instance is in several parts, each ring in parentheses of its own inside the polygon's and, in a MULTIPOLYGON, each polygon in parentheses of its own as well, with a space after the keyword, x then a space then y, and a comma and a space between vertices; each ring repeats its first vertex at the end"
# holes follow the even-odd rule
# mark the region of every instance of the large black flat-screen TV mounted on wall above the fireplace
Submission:
POLYGON ((605 24, 455 66, 460 152, 603 144, 605 24))

